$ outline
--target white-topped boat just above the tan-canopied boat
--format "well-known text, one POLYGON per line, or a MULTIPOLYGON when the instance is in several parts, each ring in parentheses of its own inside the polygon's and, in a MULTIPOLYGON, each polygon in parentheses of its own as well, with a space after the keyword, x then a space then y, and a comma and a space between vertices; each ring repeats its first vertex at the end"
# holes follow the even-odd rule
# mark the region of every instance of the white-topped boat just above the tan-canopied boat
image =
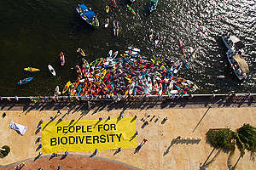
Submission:
POLYGON ((234 47, 235 50, 239 50, 241 51, 241 53, 244 52, 243 48, 245 47, 245 45, 238 37, 232 35, 231 33, 225 33, 221 37, 227 48, 231 49, 234 47))

